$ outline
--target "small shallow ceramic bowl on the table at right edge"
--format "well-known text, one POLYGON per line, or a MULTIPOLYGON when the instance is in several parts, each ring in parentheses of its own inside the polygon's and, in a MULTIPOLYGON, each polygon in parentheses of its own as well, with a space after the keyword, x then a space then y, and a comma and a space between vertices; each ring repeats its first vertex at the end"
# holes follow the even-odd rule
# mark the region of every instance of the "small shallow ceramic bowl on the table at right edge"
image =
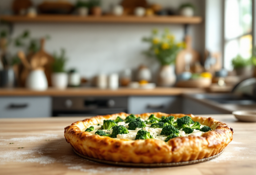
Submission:
POLYGON ((256 122, 256 111, 233 111, 232 114, 243 122, 256 122))

